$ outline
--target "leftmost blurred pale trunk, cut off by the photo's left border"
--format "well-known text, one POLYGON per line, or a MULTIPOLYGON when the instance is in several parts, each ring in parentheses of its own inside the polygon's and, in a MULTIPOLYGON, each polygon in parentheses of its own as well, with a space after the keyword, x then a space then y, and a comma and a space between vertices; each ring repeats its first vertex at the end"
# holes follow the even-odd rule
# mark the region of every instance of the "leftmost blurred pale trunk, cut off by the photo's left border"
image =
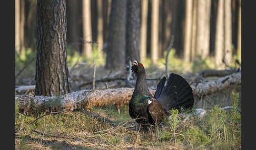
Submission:
POLYGON ((20 10, 20 1, 15 0, 15 50, 16 52, 19 52, 21 45, 20 45, 20 33, 19 33, 19 24, 20 24, 20 16, 21 16, 21 10, 20 10))

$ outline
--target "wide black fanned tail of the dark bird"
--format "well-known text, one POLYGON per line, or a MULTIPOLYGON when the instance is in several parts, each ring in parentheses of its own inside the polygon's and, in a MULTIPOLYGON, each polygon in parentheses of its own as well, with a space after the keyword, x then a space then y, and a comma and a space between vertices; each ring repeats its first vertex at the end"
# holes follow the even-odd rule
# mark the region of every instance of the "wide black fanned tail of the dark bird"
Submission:
POLYGON ((191 108, 194 103, 193 90, 184 78, 178 74, 171 73, 157 100, 159 100, 166 112, 169 112, 172 108, 191 108))

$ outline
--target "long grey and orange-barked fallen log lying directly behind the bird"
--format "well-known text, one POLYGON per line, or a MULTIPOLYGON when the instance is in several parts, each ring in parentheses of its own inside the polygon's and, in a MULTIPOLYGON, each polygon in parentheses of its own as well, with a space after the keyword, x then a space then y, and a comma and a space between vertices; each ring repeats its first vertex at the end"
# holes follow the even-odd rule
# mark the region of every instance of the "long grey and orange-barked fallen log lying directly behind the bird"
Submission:
MULTIPOLYGON (((241 72, 233 73, 217 80, 192 84, 191 88, 194 95, 204 97, 235 85, 241 85, 241 72)), ((123 106, 129 103, 133 90, 134 88, 81 90, 60 97, 16 95, 15 99, 18 101, 20 112, 72 111, 75 109, 91 109, 93 106, 123 106)), ((155 87, 150 88, 152 95, 154 95, 155 90, 155 87)))

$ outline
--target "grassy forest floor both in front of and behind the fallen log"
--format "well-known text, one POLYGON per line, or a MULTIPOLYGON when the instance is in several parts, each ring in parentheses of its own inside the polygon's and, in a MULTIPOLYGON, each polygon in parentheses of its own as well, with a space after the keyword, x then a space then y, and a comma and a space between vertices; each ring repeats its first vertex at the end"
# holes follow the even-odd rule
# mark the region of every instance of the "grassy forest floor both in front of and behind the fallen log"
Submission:
MULTIPOLYGON (((35 85, 35 53, 28 51, 26 59, 16 58, 15 88, 19 85, 35 85), (23 71, 21 71, 23 70, 23 71), (17 76, 18 74, 18 76, 17 76)), ((175 59, 171 54, 169 73, 178 73, 191 80, 194 72, 214 68, 209 60, 192 63, 192 66, 175 59), (209 62, 208 62, 209 61, 209 62)), ((165 76, 164 61, 152 65, 143 62, 147 78, 165 76)), ((110 71, 103 67, 104 60, 96 60, 96 80, 105 77, 126 78, 128 71, 110 71)), ((73 91, 92 89, 92 84, 81 86, 93 79, 93 61, 68 57, 71 89, 73 91)), ((213 80, 209 77, 206 80, 213 80)), ((147 81, 149 87, 159 80, 147 81)), ((131 81, 134 86, 134 80, 131 81)), ((96 82, 96 89, 125 87, 125 80, 96 82)), ((166 120, 164 128, 150 127, 148 131, 135 128, 135 120, 129 115, 129 106, 94 107, 91 110, 38 114, 19 113, 15 108, 16 149, 241 149, 241 87, 229 88, 203 99, 195 97, 194 109, 206 110, 206 115, 195 115, 185 121, 173 111, 175 120, 166 120), (231 109, 221 109, 233 106, 231 109), (43 117, 40 117, 43 116, 43 117), (175 117, 176 116, 176 117, 175 117), (136 129, 136 130, 135 130, 136 129)), ((34 90, 16 94, 34 94, 34 90)))

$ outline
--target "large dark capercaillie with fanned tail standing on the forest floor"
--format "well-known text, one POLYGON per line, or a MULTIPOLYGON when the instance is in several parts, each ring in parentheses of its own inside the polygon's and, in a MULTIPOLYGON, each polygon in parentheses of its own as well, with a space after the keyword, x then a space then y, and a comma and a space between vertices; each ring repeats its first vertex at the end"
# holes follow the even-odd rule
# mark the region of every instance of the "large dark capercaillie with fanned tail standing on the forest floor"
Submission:
POLYGON ((131 70, 136 75, 136 85, 129 102, 129 114, 139 125, 147 126, 163 122, 169 111, 190 109, 194 104, 192 89, 178 74, 171 73, 167 83, 163 77, 157 84, 154 97, 146 85, 146 72, 142 63, 136 60, 131 70), (142 119, 139 119, 142 118, 142 119))

